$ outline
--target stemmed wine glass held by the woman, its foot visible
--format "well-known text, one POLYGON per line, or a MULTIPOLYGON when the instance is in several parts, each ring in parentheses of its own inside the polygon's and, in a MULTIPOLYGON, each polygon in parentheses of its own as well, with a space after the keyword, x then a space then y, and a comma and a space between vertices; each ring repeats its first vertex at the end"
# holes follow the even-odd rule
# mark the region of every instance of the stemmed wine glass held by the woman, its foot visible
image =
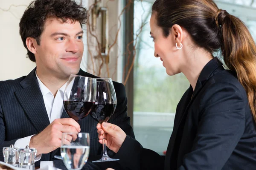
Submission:
MULTIPOLYGON (((96 79, 96 100, 90 116, 96 119, 100 124, 107 122, 116 109, 116 92, 111 78, 96 79)), ((103 134, 103 156, 101 159, 93 162, 118 161, 108 156, 105 135, 103 134)))

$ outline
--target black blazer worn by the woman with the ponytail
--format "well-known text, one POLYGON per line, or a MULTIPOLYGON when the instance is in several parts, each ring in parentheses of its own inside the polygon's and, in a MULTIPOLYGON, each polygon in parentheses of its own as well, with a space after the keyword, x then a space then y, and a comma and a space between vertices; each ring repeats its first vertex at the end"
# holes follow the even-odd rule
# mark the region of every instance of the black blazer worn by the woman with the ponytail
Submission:
POLYGON ((129 136, 116 157, 131 170, 256 169, 256 125, 244 88, 212 59, 177 105, 165 159, 129 136))

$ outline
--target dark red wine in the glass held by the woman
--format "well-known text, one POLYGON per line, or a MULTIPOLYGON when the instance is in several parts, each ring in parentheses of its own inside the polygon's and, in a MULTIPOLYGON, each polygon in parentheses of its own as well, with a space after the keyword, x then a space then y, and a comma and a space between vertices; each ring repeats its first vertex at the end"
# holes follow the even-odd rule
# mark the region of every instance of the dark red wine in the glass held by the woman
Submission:
POLYGON ((97 119, 99 123, 107 122, 108 119, 112 116, 113 112, 116 109, 116 104, 95 104, 93 106, 92 111, 90 111, 90 115, 97 119))

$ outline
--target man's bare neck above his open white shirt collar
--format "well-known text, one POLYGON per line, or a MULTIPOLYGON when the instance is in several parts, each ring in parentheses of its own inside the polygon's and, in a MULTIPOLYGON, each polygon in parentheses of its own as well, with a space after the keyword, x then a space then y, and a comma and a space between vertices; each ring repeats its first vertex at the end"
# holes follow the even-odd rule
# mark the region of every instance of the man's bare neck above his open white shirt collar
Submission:
POLYGON ((41 82, 52 92, 54 97, 56 96, 58 89, 61 88, 69 78, 66 77, 61 79, 53 74, 46 74, 38 70, 36 70, 36 74, 41 82))

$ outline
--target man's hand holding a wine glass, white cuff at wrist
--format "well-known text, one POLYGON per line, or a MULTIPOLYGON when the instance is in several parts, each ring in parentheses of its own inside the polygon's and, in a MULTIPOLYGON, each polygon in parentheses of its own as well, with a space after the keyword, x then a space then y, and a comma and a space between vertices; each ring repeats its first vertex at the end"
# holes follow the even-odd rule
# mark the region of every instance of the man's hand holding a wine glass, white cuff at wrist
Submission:
MULTIPOLYGON (((61 147, 61 136, 63 132, 78 134, 80 131, 80 125, 74 119, 55 119, 41 133, 32 136, 29 147, 35 148, 38 155, 49 153, 61 147)), ((76 136, 73 137, 76 138, 76 136)), ((71 136, 70 139, 72 139, 71 136)))

